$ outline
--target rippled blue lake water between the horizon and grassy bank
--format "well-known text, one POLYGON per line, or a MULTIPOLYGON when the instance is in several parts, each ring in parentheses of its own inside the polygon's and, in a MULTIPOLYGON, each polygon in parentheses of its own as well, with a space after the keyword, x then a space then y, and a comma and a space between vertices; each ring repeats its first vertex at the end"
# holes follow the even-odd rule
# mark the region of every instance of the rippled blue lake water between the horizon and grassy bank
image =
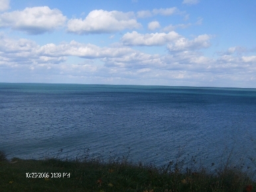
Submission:
POLYGON ((255 156, 256 89, 0 83, 0 150, 8 158, 197 156, 205 166, 255 156), (62 149, 62 150, 61 150, 62 149), (110 153, 111 152, 111 153, 110 153))

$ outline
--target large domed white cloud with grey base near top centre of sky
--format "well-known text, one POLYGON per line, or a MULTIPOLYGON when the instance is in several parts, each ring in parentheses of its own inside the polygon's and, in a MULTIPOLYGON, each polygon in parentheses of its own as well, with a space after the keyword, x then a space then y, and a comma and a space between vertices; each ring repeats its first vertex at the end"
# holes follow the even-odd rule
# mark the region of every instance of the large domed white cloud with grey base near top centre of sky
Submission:
POLYGON ((140 28, 133 12, 121 11, 91 11, 86 19, 70 19, 68 32, 77 34, 109 33, 124 30, 125 28, 140 28))

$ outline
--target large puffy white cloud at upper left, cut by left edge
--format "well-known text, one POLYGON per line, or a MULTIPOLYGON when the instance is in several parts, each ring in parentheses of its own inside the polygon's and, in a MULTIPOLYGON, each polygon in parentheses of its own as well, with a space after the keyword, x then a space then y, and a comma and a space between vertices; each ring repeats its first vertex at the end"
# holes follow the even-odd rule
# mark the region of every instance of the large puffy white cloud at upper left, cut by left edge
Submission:
POLYGON ((32 7, 0 15, 0 27, 25 31, 28 34, 42 34, 64 26, 66 17, 58 9, 32 7))

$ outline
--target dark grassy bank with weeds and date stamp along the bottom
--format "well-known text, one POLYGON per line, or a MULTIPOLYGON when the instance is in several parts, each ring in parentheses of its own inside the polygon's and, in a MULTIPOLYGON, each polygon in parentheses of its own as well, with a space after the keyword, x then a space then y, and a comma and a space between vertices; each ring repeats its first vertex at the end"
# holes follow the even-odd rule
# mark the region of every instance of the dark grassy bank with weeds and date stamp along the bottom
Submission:
MULTIPOLYGON (((76 160, 45 158, 44 160, 7 160, 0 150, 0 191, 255 191, 254 175, 233 167, 229 160, 215 173, 183 161, 166 166, 129 162, 129 154, 122 158, 109 157, 105 162, 90 158, 86 153, 76 160)), ((212 164, 214 166, 214 164, 212 164)))

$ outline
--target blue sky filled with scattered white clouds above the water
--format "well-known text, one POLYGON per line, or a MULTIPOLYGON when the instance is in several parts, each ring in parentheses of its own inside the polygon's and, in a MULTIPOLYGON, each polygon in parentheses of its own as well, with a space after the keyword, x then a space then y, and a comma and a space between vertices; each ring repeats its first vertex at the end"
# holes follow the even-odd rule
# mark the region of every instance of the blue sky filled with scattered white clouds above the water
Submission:
POLYGON ((0 82, 256 88, 256 1, 0 0, 0 82))

